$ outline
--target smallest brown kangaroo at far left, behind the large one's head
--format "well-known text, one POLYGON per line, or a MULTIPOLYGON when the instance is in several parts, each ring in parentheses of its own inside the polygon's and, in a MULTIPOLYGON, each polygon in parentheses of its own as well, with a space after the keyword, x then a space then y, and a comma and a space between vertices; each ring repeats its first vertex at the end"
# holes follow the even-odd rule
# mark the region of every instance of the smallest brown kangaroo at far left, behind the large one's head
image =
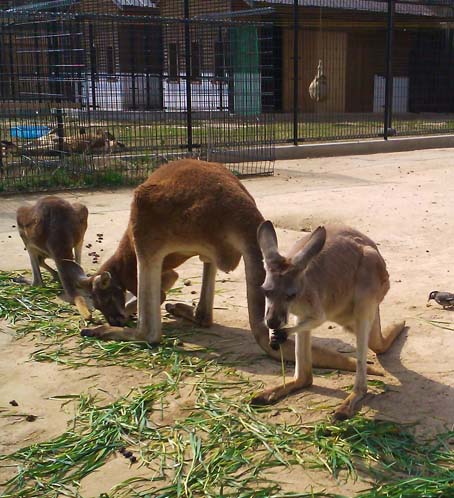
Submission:
POLYGON ((19 235, 28 251, 33 273, 32 282, 23 277, 17 281, 41 286, 43 279, 40 267, 45 268, 54 280, 58 281, 60 278, 69 301, 76 305, 84 318, 89 319, 91 313, 87 302, 75 288, 65 263, 65 260, 75 259, 80 264, 87 230, 87 208, 79 203, 70 204, 59 197, 48 196, 33 206, 19 207, 16 218, 19 235), (46 263, 47 258, 55 261, 58 271, 46 263))

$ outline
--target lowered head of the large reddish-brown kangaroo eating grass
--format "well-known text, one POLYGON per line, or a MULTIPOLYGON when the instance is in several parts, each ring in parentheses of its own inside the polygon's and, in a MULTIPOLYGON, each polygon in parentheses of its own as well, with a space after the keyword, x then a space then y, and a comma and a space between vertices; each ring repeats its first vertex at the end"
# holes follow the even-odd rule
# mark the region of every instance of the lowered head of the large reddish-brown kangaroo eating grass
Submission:
POLYGON ((125 309, 125 291, 108 271, 87 277, 84 270, 75 261, 65 260, 67 272, 78 289, 88 292, 93 305, 110 325, 122 327, 128 316, 125 309))

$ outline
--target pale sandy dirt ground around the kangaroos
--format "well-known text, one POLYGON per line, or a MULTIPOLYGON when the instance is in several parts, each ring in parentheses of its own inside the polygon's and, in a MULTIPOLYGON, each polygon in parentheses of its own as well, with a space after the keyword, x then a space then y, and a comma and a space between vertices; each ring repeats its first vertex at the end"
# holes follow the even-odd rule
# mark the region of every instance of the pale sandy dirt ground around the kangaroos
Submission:
MULTIPOLYGON (((365 232, 379 244, 391 276, 391 290, 382 305, 382 323, 404 318, 408 329, 392 349, 378 358, 386 370, 390 387, 370 395, 363 410, 377 417, 417 423, 418 431, 433 434, 454 424, 454 331, 427 323, 429 319, 453 321, 450 311, 426 306, 432 290, 454 291, 452 240, 454 221, 454 152, 449 149, 425 150, 370 156, 350 156, 276 163, 273 178, 244 181, 265 217, 278 227, 281 248, 288 248, 302 230, 325 222, 347 223, 365 232)), ((115 249, 126 227, 131 190, 64 193, 63 197, 85 203, 90 211, 86 243, 93 244, 101 261, 115 249), (96 234, 103 233, 102 244, 96 234)), ((15 211, 38 195, 0 199, 0 269, 29 267, 27 253, 13 225, 15 211)), ((213 227, 215 229, 215 227, 213 227)), ((85 249, 83 265, 94 269, 85 249)), ((198 297, 201 263, 193 259, 181 267, 181 278, 190 278, 183 297, 191 302, 198 297), (191 294, 196 290, 197 294, 191 294)), ((177 285, 181 285, 181 280, 177 285)), ((211 346, 222 361, 229 352, 246 359, 240 369, 266 384, 280 381, 280 365, 267 359, 248 330, 244 271, 240 266, 229 275, 219 274, 215 300, 216 335, 194 336, 193 342, 211 346), (247 353, 245 353, 247 352, 247 353)), ((432 301, 433 303, 433 301, 432 301)), ((181 325, 184 327, 184 325, 181 325)), ((112 400, 137 384, 149 380, 143 372, 108 367, 69 370, 55 364, 30 362, 31 341, 15 341, 6 327, 0 334, 0 407, 11 399, 21 408, 38 415, 33 424, 10 423, 0 419, 0 453, 33 441, 44 441, 64 431, 73 415, 70 407, 49 400, 56 395, 104 390, 112 400)), ((353 352, 354 341, 339 327, 328 324, 316 331, 320 342, 342 352, 353 352)), ((371 358, 373 355, 371 355, 371 358)), ((291 367, 289 367, 290 374, 291 367)), ((149 373, 152 375, 152 372, 149 373)), ((345 397, 343 387, 353 383, 354 374, 316 376, 314 386, 282 401, 291 404, 303 419, 319 419, 345 397), (317 405, 328 405, 321 412, 317 405)), ((168 411, 181 409, 179 400, 168 411)), ((172 416, 171 413, 166 415, 172 416)), ((2 470, 0 470, 2 472, 2 470)), ((136 475, 140 474, 139 469, 136 475)), ((130 477, 124 459, 114 458, 101 471, 81 483, 81 495, 99 496, 111 486, 130 477)), ((0 479, 1 480, 1 479, 0 479)), ((327 479, 325 474, 292 469, 279 474, 284 489, 309 491, 326 489, 352 496, 364 483, 327 479)))

